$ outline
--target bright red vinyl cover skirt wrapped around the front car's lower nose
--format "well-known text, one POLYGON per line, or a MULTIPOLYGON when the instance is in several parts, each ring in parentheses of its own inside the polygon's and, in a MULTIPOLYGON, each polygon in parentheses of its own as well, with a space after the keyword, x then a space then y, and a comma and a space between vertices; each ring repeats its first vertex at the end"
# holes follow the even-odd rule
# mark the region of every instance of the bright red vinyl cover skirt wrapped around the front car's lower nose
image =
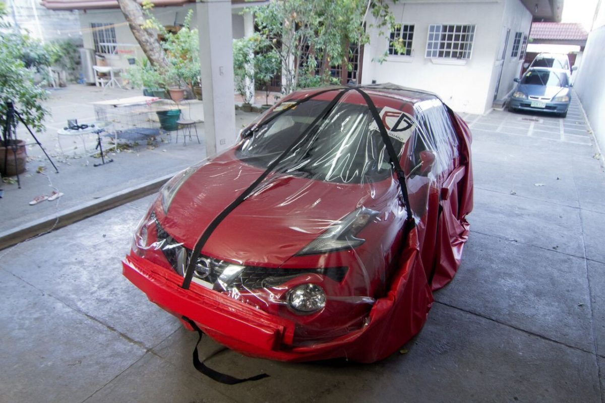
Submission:
POLYGON ((193 320, 209 337, 244 355, 291 362, 346 357, 372 363, 410 340, 427 319, 433 296, 417 256, 417 249, 404 252, 393 288, 373 305, 365 326, 304 346, 293 346, 293 321, 195 283, 183 289, 183 277, 132 253, 122 266, 124 276, 149 300, 181 321, 183 316, 193 320))

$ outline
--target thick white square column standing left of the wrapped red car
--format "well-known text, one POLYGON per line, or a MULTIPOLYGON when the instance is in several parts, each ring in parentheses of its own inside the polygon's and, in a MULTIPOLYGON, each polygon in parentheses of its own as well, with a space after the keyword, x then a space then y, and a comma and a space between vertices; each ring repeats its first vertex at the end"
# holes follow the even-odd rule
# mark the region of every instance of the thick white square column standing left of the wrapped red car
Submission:
POLYGON ((212 156, 237 139, 231 1, 209 0, 196 3, 195 7, 200 33, 206 155, 212 156))

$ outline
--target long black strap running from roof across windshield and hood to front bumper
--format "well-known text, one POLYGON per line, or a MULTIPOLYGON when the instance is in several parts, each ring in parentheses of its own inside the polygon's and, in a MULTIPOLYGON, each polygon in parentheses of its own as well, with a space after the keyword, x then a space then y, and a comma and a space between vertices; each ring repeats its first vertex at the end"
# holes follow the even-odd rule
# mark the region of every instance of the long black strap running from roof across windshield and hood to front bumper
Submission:
MULTIPOLYGON (((298 136, 298 138, 296 138, 296 140, 294 140, 292 142, 292 144, 290 144, 290 146, 286 150, 284 150, 284 152, 282 152, 280 154, 280 156, 278 156, 277 158, 275 158, 275 160, 273 160, 269 164, 269 166, 261 174, 261 176, 259 176, 257 178, 257 180, 255 180, 249 187, 247 187, 246 190, 244 190, 243 192, 241 192, 241 194, 234 201, 232 201, 231 204, 229 204, 223 211, 221 211, 220 214, 218 214, 218 216, 215 217, 214 220, 212 220, 212 222, 210 223, 210 225, 208 225, 208 227, 206 228, 206 230, 204 230, 204 232, 201 234, 200 239, 198 239, 197 242, 195 243, 194 250, 191 253, 191 258, 189 259, 189 262, 187 264, 187 268, 185 269, 185 279, 183 280, 183 285, 181 285, 181 287, 183 287, 184 289, 189 289, 189 286, 191 285, 191 279, 193 278, 193 272, 194 272, 195 264, 197 263, 198 257, 200 257, 201 249, 204 247, 204 245, 208 241, 208 238, 211 236, 211 234, 214 232, 214 230, 217 229, 218 225, 229 215, 229 213, 231 213, 231 211, 235 210, 235 208, 238 205, 240 205, 241 202, 243 202, 248 196, 250 196, 250 194, 257 188, 257 186, 262 181, 264 181, 264 179, 269 175, 269 173, 271 173, 273 171, 273 169, 275 169, 275 167, 287 155, 289 155, 289 153, 296 146, 296 144, 298 144, 301 140, 303 140, 304 138, 306 138, 309 134, 312 134, 313 131, 315 129, 317 129, 317 127, 316 127, 317 123, 319 121, 321 121, 322 119, 324 119, 325 116, 327 116, 327 114, 329 114, 329 112, 332 111, 332 108, 334 108, 334 106, 340 100, 340 98, 342 97, 342 95, 344 95, 347 91, 350 91, 350 89, 351 88, 338 88, 336 90, 332 90, 332 89, 329 90, 329 91, 340 91, 340 92, 338 92, 338 94, 336 94, 336 96, 333 98, 333 100, 330 101, 330 103, 328 104, 328 106, 326 106, 324 108, 324 110, 321 112, 321 114, 319 114, 315 118, 315 120, 313 120, 313 122, 309 125, 309 127, 307 127, 307 129, 305 129, 304 131, 302 131, 302 133, 298 136)), ((322 91, 321 93, 323 93, 323 92, 326 92, 326 91, 322 91)), ((314 94, 311 97, 316 96, 318 94, 314 94)), ((305 98, 305 99, 308 100, 311 97, 305 98)))

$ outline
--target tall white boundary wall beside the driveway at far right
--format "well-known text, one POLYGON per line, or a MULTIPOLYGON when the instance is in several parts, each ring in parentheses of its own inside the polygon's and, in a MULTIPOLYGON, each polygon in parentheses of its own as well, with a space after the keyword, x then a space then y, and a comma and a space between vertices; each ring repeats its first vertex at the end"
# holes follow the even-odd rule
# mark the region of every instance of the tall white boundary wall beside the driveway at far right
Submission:
POLYGON ((586 48, 577 77, 575 91, 586 111, 595 137, 605 151, 605 6, 595 20, 593 30, 588 36, 586 48))

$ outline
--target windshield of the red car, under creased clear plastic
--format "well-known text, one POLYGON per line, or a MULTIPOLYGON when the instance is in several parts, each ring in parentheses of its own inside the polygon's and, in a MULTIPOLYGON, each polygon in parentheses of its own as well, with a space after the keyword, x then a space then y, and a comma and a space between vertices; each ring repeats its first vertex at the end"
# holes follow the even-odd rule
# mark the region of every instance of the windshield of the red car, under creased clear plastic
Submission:
MULTIPOLYGON (((373 118, 368 106, 347 103, 346 98, 347 95, 316 124, 310 136, 296 144, 276 170, 341 183, 374 182, 391 175, 390 160, 381 135, 370 127, 373 118)), ((323 100, 303 102, 260 126, 240 144, 237 158, 254 166, 267 167, 309 127, 328 103, 323 100)), ((290 105, 282 105, 286 104, 290 105)), ((403 143, 397 140, 392 143, 396 152, 401 153, 403 143)))

